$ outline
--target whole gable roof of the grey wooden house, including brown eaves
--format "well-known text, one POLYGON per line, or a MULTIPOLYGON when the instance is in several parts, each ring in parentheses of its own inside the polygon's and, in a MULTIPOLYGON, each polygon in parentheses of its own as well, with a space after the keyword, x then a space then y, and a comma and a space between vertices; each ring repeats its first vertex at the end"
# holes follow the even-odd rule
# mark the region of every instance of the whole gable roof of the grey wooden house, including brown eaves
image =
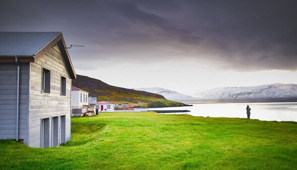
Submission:
POLYGON ((58 44, 72 79, 76 78, 72 61, 61 32, 0 32, 0 63, 35 62, 58 44))

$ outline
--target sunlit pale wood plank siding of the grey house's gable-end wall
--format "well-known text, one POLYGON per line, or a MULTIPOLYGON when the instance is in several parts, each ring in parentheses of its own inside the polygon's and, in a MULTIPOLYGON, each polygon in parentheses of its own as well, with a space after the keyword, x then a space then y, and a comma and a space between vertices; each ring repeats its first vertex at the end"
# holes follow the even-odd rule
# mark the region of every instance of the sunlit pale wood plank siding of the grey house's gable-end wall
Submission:
MULTIPOLYGON (((35 63, 30 63, 29 146, 40 147, 42 118, 50 118, 52 130, 52 117, 59 116, 60 122, 61 115, 66 115, 66 141, 68 141, 71 138, 71 77, 63 56, 50 48, 35 63), (42 68, 51 71, 49 94, 41 92, 42 68), (66 96, 60 95, 61 76, 66 77, 66 96)), ((52 146, 52 131, 50 131, 50 146, 52 146)))

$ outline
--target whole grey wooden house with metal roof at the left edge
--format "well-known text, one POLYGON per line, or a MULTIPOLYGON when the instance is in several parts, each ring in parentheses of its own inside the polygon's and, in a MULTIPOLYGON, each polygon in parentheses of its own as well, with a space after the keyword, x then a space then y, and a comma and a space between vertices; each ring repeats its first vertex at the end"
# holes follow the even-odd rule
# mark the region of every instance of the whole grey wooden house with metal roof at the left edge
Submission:
POLYGON ((0 32, 0 139, 43 148, 70 140, 75 78, 61 32, 0 32))

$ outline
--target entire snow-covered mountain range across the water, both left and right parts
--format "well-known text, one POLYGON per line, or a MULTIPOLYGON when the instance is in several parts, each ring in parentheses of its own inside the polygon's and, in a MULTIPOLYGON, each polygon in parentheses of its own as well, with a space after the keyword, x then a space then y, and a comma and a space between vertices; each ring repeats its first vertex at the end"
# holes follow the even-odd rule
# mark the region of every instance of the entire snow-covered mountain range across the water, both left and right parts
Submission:
POLYGON ((297 102, 297 84, 222 87, 198 92, 193 97, 159 87, 136 88, 136 90, 156 93, 168 100, 179 102, 297 102))

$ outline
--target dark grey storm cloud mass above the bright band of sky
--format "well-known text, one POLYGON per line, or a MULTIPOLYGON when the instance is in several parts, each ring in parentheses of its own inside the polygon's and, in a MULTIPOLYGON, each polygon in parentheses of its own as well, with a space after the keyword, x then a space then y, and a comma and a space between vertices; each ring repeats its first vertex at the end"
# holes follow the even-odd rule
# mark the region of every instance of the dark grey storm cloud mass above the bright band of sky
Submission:
MULTIPOLYGON (((75 60, 297 70, 295 0, 1 0, 1 31, 62 31, 75 60)), ((74 60, 73 59, 73 60, 74 60)))

